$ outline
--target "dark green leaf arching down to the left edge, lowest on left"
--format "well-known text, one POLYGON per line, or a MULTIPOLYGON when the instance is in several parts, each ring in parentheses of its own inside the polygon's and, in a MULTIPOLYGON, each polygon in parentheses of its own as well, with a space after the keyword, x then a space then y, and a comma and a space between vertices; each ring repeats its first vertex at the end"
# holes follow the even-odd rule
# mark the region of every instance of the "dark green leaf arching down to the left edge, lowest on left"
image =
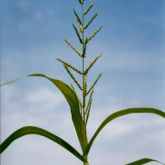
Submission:
POLYGON ((44 129, 34 127, 34 126, 26 126, 26 127, 20 128, 17 131, 15 131, 14 133, 12 133, 0 145, 0 153, 2 153, 14 140, 16 140, 22 136, 29 135, 29 134, 37 134, 37 135, 44 136, 44 137, 52 140, 53 142, 59 144, 66 150, 68 150, 70 153, 72 153, 74 156, 76 156, 81 161, 83 161, 83 162, 85 161, 85 159, 81 156, 81 154, 77 150, 75 150, 70 144, 68 144, 66 141, 64 141, 60 137, 58 137, 44 129))

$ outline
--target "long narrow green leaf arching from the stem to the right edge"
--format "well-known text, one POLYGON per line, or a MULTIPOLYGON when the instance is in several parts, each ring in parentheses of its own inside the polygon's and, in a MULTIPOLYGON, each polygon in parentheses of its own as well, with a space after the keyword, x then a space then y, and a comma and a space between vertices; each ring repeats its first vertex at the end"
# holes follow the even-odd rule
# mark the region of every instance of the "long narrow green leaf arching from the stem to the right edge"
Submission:
POLYGON ((94 142, 94 140, 96 139, 97 135, 100 133, 100 131, 107 125, 109 124, 112 120, 119 118, 121 116, 124 115, 128 115, 128 114, 134 114, 134 113, 153 113, 156 115, 159 115, 163 118, 165 118, 165 112, 160 111, 158 109, 154 109, 154 108, 128 108, 128 109, 124 109, 121 111, 117 111, 113 114, 111 114, 110 116, 108 116, 102 123, 101 125, 98 127, 98 129, 96 130, 96 132, 94 133, 93 137, 91 138, 91 140, 89 141, 85 152, 84 152, 84 156, 88 155, 89 150, 94 142))

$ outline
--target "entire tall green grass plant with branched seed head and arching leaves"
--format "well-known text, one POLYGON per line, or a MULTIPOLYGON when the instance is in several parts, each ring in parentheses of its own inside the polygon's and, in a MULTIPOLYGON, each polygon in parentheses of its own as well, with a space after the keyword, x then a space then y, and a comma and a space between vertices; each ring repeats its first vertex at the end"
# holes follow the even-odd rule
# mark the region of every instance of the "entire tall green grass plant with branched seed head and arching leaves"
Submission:
MULTIPOLYGON (((63 96, 65 97, 67 103, 70 106, 72 122, 73 122, 75 131, 77 134, 77 138, 79 140, 79 143, 80 143, 80 146, 82 149, 82 155, 76 149, 74 149, 69 143, 65 142, 62 138, 60 138, 46 130, 43 130, 43 129, 37 128, 37 127, 33 127, 33 126, 27 126, 27 127, 20 128, 17 131, 15 131, 13 134, 11 134, 1 144, 1 146, 0 146, 1 153, 16 139, 18 139, 22 136, 25 136, 25 135, 29 135, 29 134, 37 134, 37 135, 44 136, 44 137, 52 140, 53 142, 59 144, 60 146, 62 146, 66 150, 68 150, 70 153, 72 153, 74 156, 76 156, 78 159, 80 159, 84 163, 84 165, 89 165, 88 155, 89 155, 90 149, 93 145, 93 142, 95 141, 98 134, 102 131, 102 129, 107 124, 109 124, 111 121, 113 121, 114 119, 117 119, 124 115, 135 114, 135 113, 136 114, 152 113, 152 114, 159 115, 159 116, 165 118, 165 112, 158 110, 158 109, 154 109, 154 108, 145 107, 145 108, 128 108, 128 109, 120 110, 120 111, 117 111, 117 112, 109 115, 101 123, 101 125, 98 127, 98 129, 96 130, 96 132, 94 133, 94 135, 92 136, 90 141, 88 142, 87 123, 88 123, 88 119, 89 119, 90 112, 91 112, 94 89, 95 89, 95 85, 97 84, 98 80, 100 79, 100 77, 102 75, 102 74, 99 74, 98 77, 96 78, 96 80, 88 88, 88 73, 92 69, 94 64, 98 61, 98 59, 101 57, 101 55, 94 58, 88 66, 86 66, 85 59, 88 56, 87 46, 88 46, 89 42, 96 36, 96 34, 98 34, 101 31, 102 27, 98 28, 90 36, 86 36, 86 30, 92 24, 92 22, 96 19, 98 14, 95 13, 89 19, 89 21, 87 23, 85 23, 85 17, 88 15, 88 13, 94 7, 94 4, 91 4, 91 5, 89 5, 89 7, 84 9, 85 0, 78 0, 78 2, 82 9, 81 16, 79 13, 77 13, 77 11, 75 9, 73 10, 74 16, 76 18, 76 25, 72 24, 72 26, 73 26, 75 34, 79 40, 79 43, 81 45, 81 51, 79 51, 75 46, 73 46, 68 40, 64 39, 64 41, 75 52, 75 54, 78 55, 78 57, 80 58, 82 69, 80 70, 79 68, 76 68, 72 64, 70 64, 60 58, 58 58, 57 60, 64 66, 66 72, 69 74, 69 76, 73 80, 74 85, 76 85, 78 87, 78 90, 81 93, 81 97, 78 95, 78 90, 76 90, 74 88, 73 84, 71 84, 71 86, 69 86, 61 80, 57 80, 57 79, 48 77, 48 76, 46 76, 44 74, 40 74, 40 73, 32 74, 30 76, 41 77, 41 78, 47 79, 48 81, 53 83, 53 85, 55 85, 61 91, 63 96), (71 72, 71 70, 73 71, 73 73, 76 72, 79 76, 81 76, 81 80, 82 80, 81 83, 78 82, 79 79, 71 72)), ((2 85, 4 86, 4 85, 10 84, 15 81, 16 80, 7 82, 2 85)), ((146 163, 149 163, 152 161, 159 162, 154 159, 143 158, 143 159, 134 161, 132 163, 129 163, 127 165, 142 165, 142 164, 146 164, 146 163)), ((159 162, 159 163, 161 163, 161 162, 159 162)), ((163 163, 161 163, 161 164, 163 164, 163 163)))

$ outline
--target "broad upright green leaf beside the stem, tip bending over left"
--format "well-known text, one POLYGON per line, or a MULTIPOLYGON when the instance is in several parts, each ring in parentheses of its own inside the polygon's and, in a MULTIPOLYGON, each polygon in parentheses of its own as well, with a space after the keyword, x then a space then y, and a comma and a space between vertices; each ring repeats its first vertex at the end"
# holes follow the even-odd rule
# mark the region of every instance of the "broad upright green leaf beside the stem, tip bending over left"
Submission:
POLYGON ((86 129, 85 129, 85 123, 82 120, 81 113, 80 113, 80 107, 79 107, 79 101, 77 99, 76 94, 74 91, 64 82, 50 78, 44 74, 32 74, 29 76, 37 76, 37 77, 43 77, 48 79, 50 82, 52 82, 64 95, 65 99, 67 100, 71 115, 72 115, 72 121, 82 148, 82 151, 84 151, 86 145, 87 145, 87 135, 86 135, 86 129))

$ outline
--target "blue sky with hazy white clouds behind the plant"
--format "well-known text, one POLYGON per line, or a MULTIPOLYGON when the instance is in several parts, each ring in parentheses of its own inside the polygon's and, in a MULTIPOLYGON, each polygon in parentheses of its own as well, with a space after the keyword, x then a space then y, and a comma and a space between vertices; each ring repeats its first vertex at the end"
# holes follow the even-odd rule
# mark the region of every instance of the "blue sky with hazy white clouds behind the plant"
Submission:
MULTIPOLYGON (((92 0, 86 0, 89 5, 92 0)), ((57 57, 80 65, 64 43, 76 46, 71 23, 77 0, 2 0, 1 81, 44 73, 71 83, 57 57)), ((128 107, 165 110, 165 1, 95 0, 98 19, 89 28, 103 30, 88 48, 88 59, 102 53, 90 73, 90 83, 103 76, 94 95, 89 138, 108 114, 128 107)), ((92 14, 91 13, 91 14, 92 14)), ((61 136, 80 150, 69 106, 52 84, 23 78, 1 89, 1 139, 16 129, 34 125, 61 136)), ((123 165, 142 157, 165 162, 165 121, 154 115, 130 115, 113 121, 96 139, 93 165, 123 165)), ((60 146, 39 136, 15 141, 1 157, 2 165, 81 164, 60 146)), ((156 163, 154 163, 156 165, 156 163)))

